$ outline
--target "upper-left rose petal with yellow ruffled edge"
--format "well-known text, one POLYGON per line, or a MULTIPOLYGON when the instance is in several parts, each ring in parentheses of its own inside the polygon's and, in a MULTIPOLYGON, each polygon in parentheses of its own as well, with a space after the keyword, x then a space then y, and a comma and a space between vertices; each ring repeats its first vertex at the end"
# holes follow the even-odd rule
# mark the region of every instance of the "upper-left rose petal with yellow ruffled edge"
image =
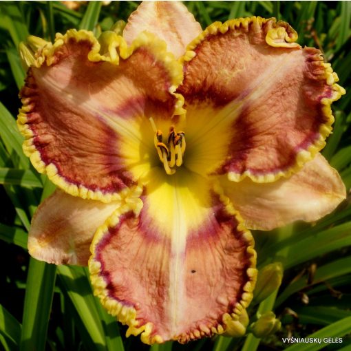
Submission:
POLYGON ((148 170, 149 118, 170 120, 181 105, 170 91, 182 67, 151 34, 130 48, 113 32, 101 43, 70 30, 43 47, 21 91, 18 123, 38 171, 67 193, 108 202, 148 170))

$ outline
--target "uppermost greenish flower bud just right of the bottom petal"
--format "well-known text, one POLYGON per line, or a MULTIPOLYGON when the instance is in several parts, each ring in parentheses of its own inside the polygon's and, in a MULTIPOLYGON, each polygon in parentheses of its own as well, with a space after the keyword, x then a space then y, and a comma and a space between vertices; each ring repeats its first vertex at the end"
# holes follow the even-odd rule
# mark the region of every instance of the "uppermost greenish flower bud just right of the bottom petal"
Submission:
POLYGON ((268 264, 260 269, 253 292, 255 303, 258 304, 277 290, 281 284, 281 279, 283 279, 283 266, 280 262, 268 264))

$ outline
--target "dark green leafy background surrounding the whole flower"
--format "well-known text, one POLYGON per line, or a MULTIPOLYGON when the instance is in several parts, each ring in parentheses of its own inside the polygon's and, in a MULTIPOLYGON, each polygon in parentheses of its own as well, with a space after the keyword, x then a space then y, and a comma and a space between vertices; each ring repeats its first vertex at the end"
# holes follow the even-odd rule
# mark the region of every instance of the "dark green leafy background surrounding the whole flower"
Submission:
MULTIPOLYGON (((213 21, 253 15, 288 21, 299 33, 301 45, 319 47, 348 91, 351 2, 189 1, 186 5, 203 28, 213 21)), ((21 149, 23 138, 15 123, 25 78, 19 43, 28 34, 53 40, 56 32, 70 28, 93 30, 98 36, 116 21, 127 21, 137 6, 136 1, 107 6, 91 1, 70 10, 58 1, 0 2, 0 350, 351 350, 350 199, 317 223, 253 232, 259 279, 262 285, 271 279, 271 288, 266 294, 255 290, 248 330, 241 338, 216 336, 187 345, 168 342, 151 347, 138 337, 126 339, 125 326, 93 297, 85 268, 56 267, 29 257, 30 218, 54 186, 34 171, 21 149), (263 331, 253 324, 257 319, 263 331), (281 338, 290 336, 343 337, 343 343, 284 344, 281 338)), ((350 105, 351 94, 333 104, 334 133, 323 150, 348 190, 350 105)))

